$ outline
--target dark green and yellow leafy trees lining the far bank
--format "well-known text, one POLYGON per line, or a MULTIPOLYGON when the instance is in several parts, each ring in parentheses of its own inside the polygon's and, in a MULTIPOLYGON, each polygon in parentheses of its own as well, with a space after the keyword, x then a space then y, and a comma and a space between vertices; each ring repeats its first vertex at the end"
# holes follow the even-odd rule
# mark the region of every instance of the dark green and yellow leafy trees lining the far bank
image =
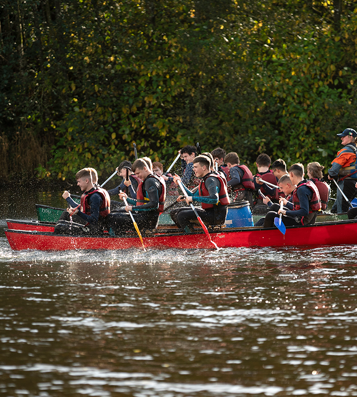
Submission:
POLYGON ((199 141, 325 171, 356 129, 353 1, 6 1, 0 183, 168 167, 199 141))

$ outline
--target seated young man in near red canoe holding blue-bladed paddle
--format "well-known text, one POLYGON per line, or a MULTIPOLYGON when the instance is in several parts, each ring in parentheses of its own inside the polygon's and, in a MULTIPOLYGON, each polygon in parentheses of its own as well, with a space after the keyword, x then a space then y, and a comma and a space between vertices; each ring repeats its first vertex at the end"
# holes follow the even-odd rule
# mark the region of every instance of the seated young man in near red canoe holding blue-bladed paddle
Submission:
POLYGON ((285 206, 289 209, 279 209, 269 211, 264 220, 264 227, 274 227, 274 219, 283 214, 282 221, 285 226, 309 225, 316 221, 317 211, 321 209, 321 200, 316 185, 304 179, 302 164, 293 164, 289 168, 291 183, 297 188, 293 192, 293 202, 281 198, 285 206))

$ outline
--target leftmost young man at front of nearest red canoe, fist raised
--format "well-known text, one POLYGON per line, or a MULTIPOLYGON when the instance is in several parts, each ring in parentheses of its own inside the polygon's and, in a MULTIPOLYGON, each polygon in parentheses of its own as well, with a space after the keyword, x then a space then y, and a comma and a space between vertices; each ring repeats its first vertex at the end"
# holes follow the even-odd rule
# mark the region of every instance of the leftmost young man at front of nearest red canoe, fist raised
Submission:
POLYGON ((106 190, 93 183, 91 168, 78 171, 75 178, 77 185, 83 192, 80 205, 64 191, 62 197, 68 203, 55 225, 55 233, 72 235, 101 235, 104 232, 104 219, 110 213, 110 197, 106 190), (80 207, 80 208, 79 208, 80 207), (87 223, 72 222, 70 216, 77 215, 87 223))

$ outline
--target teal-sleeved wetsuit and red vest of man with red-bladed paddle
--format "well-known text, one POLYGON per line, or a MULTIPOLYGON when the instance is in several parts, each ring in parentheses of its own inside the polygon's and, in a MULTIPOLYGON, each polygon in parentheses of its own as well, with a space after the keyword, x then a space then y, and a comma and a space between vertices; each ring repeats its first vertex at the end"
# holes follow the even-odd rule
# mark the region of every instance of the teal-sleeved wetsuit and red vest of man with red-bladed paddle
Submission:
MULTIPOLYGON (((188 196, 192 197, 193 203, 199 202, 206 207, 205 209, 195 207, 205 225, 222 225, 225 223, 229 198, 226 185, 219 175, 207 174, 195 193, 192 193, 187 188, 185 190, 188 196), (204 187, 202 184, 204 184, 204 187), (202 192, 206 192, 206 196, 202 196, 202 192)), ((170 212, 170 215, 177 227, 186 232, 193 232, 193 226, 199 223, 191 207, 174 209, 170 212)))

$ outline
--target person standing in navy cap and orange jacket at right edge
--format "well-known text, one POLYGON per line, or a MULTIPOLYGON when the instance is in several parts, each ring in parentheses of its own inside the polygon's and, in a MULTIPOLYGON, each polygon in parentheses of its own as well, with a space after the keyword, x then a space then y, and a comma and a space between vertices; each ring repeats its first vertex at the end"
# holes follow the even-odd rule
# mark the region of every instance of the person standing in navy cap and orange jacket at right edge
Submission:
MULTIPOLYGON (((341 138, 341 144, 345 147, 339 150, 336 158, 332 160, 332 167, 328 170, 328 178, 330 181, 335 179, 347 199, 352 201, 357 194, 355 186, 357 180, 357 132, 352 128, 347 128, 342 133, 338 133, 337 136, 341 138)), ((331 212, 347 212, 349 207, 349 203, 344 199, 340 190, 337 189, 336 201, 331 208, 331 212)))

